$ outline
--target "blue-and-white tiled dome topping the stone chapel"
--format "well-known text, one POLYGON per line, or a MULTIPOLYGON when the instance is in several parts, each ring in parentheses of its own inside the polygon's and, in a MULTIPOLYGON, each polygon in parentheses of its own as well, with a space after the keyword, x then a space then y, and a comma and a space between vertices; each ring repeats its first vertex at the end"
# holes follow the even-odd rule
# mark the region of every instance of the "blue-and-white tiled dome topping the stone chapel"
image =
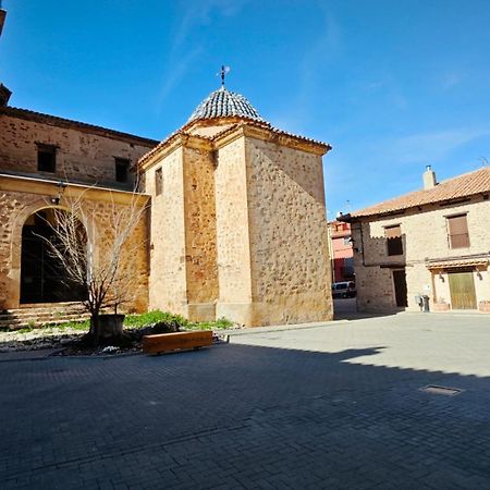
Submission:
POLYGON ((212 91, 197 106, 188 122, 196 119, 225 118, 228 115, 264 121, 244 96, 229 91, 223 86, 212 91))

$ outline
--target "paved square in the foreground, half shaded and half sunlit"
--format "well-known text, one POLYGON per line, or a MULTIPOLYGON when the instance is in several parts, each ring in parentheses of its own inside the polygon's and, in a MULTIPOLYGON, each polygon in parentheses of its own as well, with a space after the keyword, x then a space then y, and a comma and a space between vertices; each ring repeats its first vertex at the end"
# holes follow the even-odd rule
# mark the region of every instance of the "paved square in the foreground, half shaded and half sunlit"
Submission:
POLYGON ((488 489, 489 346, 489 317, 403 314, 5 360, 0 487, 488 489))

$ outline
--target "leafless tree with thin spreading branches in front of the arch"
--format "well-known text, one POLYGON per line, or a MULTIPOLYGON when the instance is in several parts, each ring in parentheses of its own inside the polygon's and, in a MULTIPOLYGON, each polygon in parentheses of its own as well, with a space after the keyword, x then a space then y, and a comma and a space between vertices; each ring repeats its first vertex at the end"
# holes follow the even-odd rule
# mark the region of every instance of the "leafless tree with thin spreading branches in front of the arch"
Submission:
POLYGON ((136 248, 145 243, 131 244, 130 237, 147 207, 136 193, 128 204, 115 203, 111 193, 103 223, 100 223, 95 206, 87 205, 89 191, 63 198, 63 207, 53 209, 54 218, 48 223, 50 236, 42 238, 50 255, 64 269, 66 286, 77 285, 83 290, 83 304, 90 314, 89 336, 97 345, 101 311, 113 307, 118 313, 118 306, 134 294, 136 248), (82 223, 98 229, 97 243, 82 223))

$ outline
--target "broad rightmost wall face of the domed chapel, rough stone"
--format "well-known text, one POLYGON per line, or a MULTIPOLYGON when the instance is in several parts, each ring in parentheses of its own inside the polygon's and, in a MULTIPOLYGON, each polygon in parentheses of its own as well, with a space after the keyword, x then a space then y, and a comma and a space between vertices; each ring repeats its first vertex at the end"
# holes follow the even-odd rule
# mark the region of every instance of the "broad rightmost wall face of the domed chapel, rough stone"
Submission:
POLYGON ((332 318, 321 156, 246 139, 255 324, 332 318))

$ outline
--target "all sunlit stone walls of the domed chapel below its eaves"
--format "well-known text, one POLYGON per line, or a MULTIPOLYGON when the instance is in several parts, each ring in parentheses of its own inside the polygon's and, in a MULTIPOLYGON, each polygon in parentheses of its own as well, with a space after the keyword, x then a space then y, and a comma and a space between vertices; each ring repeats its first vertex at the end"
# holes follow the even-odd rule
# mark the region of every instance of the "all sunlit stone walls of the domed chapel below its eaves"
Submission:
POLYGON ((264 128, 212 142, 177 134, 142 160, 152 196, 150 308, 247 326, 332 318, 324 146, 283 143, 264 128))

